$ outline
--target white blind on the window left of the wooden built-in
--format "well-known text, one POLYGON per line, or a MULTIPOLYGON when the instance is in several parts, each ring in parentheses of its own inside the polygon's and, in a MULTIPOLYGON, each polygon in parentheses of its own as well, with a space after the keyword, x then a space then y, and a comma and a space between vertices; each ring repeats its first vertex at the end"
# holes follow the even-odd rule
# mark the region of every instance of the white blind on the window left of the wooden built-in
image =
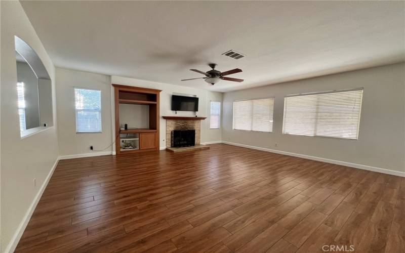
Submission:
POLYGON ((76 133, 101 133, 101 91, 74 89, 76 133))

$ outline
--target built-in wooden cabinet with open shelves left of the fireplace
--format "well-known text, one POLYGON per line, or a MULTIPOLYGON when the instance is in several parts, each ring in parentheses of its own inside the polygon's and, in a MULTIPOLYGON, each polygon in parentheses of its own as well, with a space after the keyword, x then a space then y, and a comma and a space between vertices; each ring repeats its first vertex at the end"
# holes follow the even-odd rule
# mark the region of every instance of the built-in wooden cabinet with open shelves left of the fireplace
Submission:
MULTIPOLYGON (((112 85, 114 87, 115 102, 115 152, 124 154, 147 150, 159 150, 159 95, 161 90, 146 89, 124 85, 112 85), (146 105, 149 118, 149 128, 122 129, 120 122, 120 105, 146 105), (126 147, 130 146, 130 147, 126 147)), ((125 111, 131 113, 131 111, 125 111)), ((145 120, 139 118, 139 120, 145 120)))

